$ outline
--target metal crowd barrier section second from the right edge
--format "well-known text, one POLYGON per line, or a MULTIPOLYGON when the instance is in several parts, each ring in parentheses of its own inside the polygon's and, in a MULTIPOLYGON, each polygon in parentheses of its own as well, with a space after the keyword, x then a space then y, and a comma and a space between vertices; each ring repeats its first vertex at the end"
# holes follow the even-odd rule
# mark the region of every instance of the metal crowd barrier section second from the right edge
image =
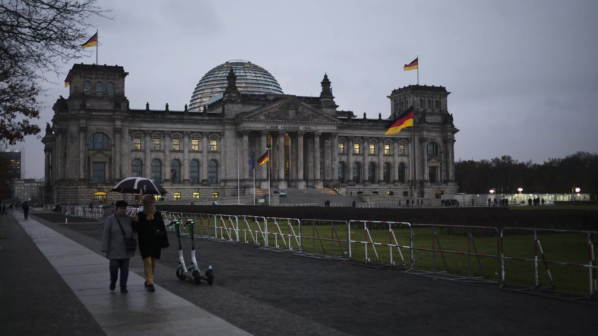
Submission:
MULTIPOLYGON (((420 276, 428 276, 434 277, 438 279, 445 279, 445 280, 454 280, 460 282, 481 282, 481 283, 499 283, 499 270, 501 269, 501 263, 499 259, 500 248, 499 248, 499 232, 498 229, 495 227, 475 227, 469 225, 435 225, 435 224, 412 224, 411 231, 413 232, 413 228, 431 228, 432 234, 432 248, 426 247, 417 247, 411 245, 411 251, 428 251, 432 252, 432 270, 422 270, 417 268, 416 265, 412 265, 410 270, 405 271, 405 273, 420 275, 420 276), (440 245, 440 239, 438 238, 437 229, 440 228, 443 230, 446 228, 447 230, 465 230, 466 239, 467 239, 467 251, 451 251, 450 249, 443 249, 440 245), (472 231, 491 231, 492 233, 496 234, 496 243, 489 244, 493 246, 496 244, 496 255, 490 253, 480 253, 478 251, 477 246, 475 245, 474 236, 472 231), (436 247, 438 245, 438 248, 436 247), (474 253, 471 252, 471 248, 474 249, 474 253), (444 264, 444 271, 439 271, 437 267, 437 253, 440 253, 440 256, 443 259, 444 264), (467 256, 467 268, 466 268, 466 276, 461 276, 459 273, 463 273, 462 271, 457 271, 454 273, 450 273, 449 264, 447 262, 447 258, 444 253, 448 253, 449 255, 466 255, 467 256), (481 276, 474 276, 471 256, 475 256, 477 259, 477 264, 479 267, 480 275, 481 276), (496 270, 495 276, 496 280, 492 280, 492 277, 486 276, 484 272, 484 267, 481 258, 496 258, 496 270)), ((487 237, 487 236, 486 236, 487 237)), ((412 240, 413 241, 413 240, 412 240)), ((423 256, 422 256, 423 258, 423 256)), ((458 263, 457 260, 453 261, 455 264, 458 263)))

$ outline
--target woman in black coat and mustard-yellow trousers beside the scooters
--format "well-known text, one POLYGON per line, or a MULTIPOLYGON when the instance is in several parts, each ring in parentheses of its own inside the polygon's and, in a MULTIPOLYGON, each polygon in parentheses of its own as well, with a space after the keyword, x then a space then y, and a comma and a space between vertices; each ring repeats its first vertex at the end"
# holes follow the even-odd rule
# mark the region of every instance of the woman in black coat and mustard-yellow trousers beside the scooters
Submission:
POLYGON ((154 196, 145 196, 143 202, 144 210, 133 218, 133 230, 137 232, 139 253, 144 259, 145 286, 153 292, 155 262, 160 259, 161 249, 169 244, 162 215, 154 207, 154 196))

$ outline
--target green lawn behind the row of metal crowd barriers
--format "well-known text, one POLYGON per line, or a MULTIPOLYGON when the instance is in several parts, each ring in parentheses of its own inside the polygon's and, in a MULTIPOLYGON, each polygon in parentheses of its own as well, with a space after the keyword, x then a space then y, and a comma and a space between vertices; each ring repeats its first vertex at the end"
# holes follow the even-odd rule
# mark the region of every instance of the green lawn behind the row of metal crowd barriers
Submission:
MULTIPOLYGON (((196 218, 196 225, 200 224, 199 218, 196 218)), ((302 224, 301 233, 297 223, 288 225, 287 221, 278 221, 278 227, 274 221, 268 222, 267 239, 270 247, 289 249, 299 251, 298 240, 301 236, 303 244, 303 252, 313 253, 328 256, 341 256, 349 258, 349 246, 347 243, 347 228, 344 224, 335 224, 335 231, 329 224, 318 224, 315 227, 311 223, 304 222, 302 224), (289 233, 296 237, 280 236, 276 233, 288 235, 289 233), (328 240, 315 240, 313 237, 328 240), (335 242, 330 239, 334 237, 335 242), (334 248, 333 248, 334 245, 334 248)), ((209 232, 210 236, 214 236, 213 221, 205 225, 210 225, 210 228, 197 226, 196 234, 203 234, 206 236, 209 232)), ((218 222, 218 229, 216 234, 218 237, 224 236, 224 239, 229 239, 230 230, 221 230, 221 223, 218 222)), ((224 227, 228 228, 228 222, 224 223, 224 227)), ((256 234, 245 230, 246 224, 239 220, 239 240, 240 242, 259 243, 264 245, 263 234, 256 234), (257 239, 257 240, 256 240, 257 239)), ((255 221, 249 221, 247 230, 255 231, 255 221)), ((260 228, 257 231, 265 231, 264 223, 260 222, 260 228)), ((446 230, 436 227, 438 240, 434 240, 435 249, 439 249, 438 243, 445 251, 468 252, 468 239, 466 236, 455 236, 446 234, 446 230)), ((413 227, 413 247, 432 249, 432 228, 431 227, 413 227)), ((492 232, 492 231, 489 231, 492 232)), ((376 243, 395 243, 394 238, 390 235, 388 228, 386 229, 371 229, 369 230, 371 241, 376 243)), ((409 245, 409 230, 408 228, 393 229, 396 243, 398 245, 409 245)), ((232 233, 233 240, 237 239, 236 233, 232 233)), ((362 228, 352 228, 350 230, 350 237, 353 241, 364 241, 365 234, 362 228)), ((573 262, 578 264, 588 264, 588 242, 587 235, 584 234, 544 234, 539 235, 538 239, 541 243, 544 255, 549 261, 573 262)), ((369 237, 367 238, 369 241, 369 237)), ((594 244, 598 243, 598 237, 594 238, 594 244)), ((496 236, 489 237, 473 237, 469 240, 470 251, 474 252, 474 244, 477 248, 477 253, 496 256, 499 255, 497 251, 496 236)), ((366 245, 364 243, 351 243, 351 259, 365 260, 366 245)), ((408 266, 409 249, 380 245, 367 245, 367 256, 370 261, 379 261, 382 264, 390 264, 390 256, 395 265, 408 266), (376 252, 374 252, 374 248, 376 252), (401 259, 402 253, 402 259, 401 259)), ((534 258, 534 242, 532 235, 526 236, 505 236, 504 237, 504 255, 514 258, 534 258)), ((418 270, 432 270, 433 264, 438 271, 447 271, 449 274, 459 276, 467 276, 468 274, 468 259, 469 268, 472 276, 484 277, 484 279, 497 280, 501 273, 499 266, 499 259, 490 256, 480 256, 478 262, 477 256, 459 255, 455 253, 440 253, 432 251, 419 251, 414 249, 413 258, 415 259, 414 268, 418 270), (432 255, 435 255, 433 261, 432 255), (443 261, 446 260, 446 266, 443 261), (481 268, 480 268, 481 263, 481 268), (482 272, 483 270, 483 272, 482 272)), ((538 252, 538 259, 541 260, 541 255, 538 252)), ((556 289, 570 292, 587 293, 590 290, 589 273, 587 267, 573 267, 558 264, 548 264, 550 272, 553 276, 553 281, 556 289)), ((534 262, 530 261, 514 261, 505 259, 505 279, 509 283, 520 285, 535 284, 534 262)), ((538 262, 538 280, 542 287, 550 287, 551 283, 545 271, 545 266, 542 262, 538 262)))

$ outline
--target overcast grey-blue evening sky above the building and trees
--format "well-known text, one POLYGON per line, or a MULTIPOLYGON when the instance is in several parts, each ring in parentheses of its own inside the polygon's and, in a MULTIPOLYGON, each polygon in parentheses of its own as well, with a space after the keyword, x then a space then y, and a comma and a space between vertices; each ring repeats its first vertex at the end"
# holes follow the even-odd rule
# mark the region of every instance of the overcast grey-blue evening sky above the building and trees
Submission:
MULTIPOLYGON (((269 71, 286 94, 317 95, 327 72, 339 109, 386 118, 390 91, 416 84, 416 71, 402 67, 419 55, 420 84, 451 92, 449 112, 460 129, 455 160, 512 155, 542 163, 598 151, 596 0, 100 5, 114 20, 94 20, 99 63, 129 72, 131 108, 149 102, 182 110, 206 72, 245 59, 269 71)), ((77 63, 94 63, 94 49, 77 63)), ((42 132, 53 102, 68 96, 62 84, 50 87, 42 132)), ((42 143, 31 136, 25 148, 28 177, 41 178, 42 143)))

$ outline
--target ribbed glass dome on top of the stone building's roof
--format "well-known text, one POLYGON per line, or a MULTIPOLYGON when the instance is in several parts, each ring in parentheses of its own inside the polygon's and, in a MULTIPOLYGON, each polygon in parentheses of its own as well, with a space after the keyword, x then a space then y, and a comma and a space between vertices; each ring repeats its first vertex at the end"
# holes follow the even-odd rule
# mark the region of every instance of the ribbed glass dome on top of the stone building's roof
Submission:
POLYGON ((229 60, 203 75, 191 96, 189 111, 200 111, 203 106, 208 105, 210 98, 224 92, 230 67, 233 67, 234 74, 237 75, 237 88, 240 93, 282 94, 276 78, 266 69, 247 60, 229 60))

